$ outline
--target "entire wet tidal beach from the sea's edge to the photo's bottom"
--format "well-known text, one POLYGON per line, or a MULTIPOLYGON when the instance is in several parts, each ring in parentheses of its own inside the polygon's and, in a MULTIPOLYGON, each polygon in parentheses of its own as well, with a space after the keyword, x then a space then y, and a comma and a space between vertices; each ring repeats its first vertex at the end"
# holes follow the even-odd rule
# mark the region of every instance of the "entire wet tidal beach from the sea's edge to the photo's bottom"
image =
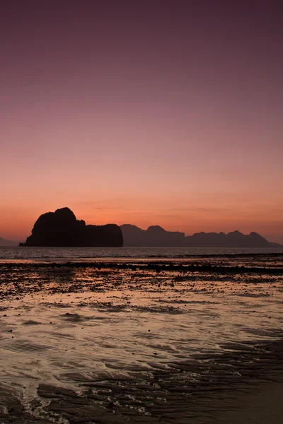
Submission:
POLYGON ((278 261, 120 265, 1 264, 0 423, 281 423, 278 261))

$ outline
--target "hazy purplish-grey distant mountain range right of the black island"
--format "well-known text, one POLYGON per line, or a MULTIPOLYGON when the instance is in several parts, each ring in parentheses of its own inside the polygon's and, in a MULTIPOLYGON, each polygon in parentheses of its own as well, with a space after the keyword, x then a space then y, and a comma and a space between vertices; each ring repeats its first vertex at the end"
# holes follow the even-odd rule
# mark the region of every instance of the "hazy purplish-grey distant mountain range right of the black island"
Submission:
POLYGON ((124 224, 122 230, 124 246, 128 247, 282 247, 268 242, 257 232, 243 235, 238 230, 224 232, 196 232, 185 236, 185 232, 166 231, 159 225, 141 230, 136 225, 124 224))

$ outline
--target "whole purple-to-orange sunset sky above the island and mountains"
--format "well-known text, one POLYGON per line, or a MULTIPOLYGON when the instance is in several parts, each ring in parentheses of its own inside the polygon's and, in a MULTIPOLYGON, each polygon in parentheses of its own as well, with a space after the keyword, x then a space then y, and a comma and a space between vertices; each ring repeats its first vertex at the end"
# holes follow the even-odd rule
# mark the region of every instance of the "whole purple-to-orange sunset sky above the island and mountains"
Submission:
POLYGON ((275 1, 13 0, 0 13, 0 237, 86 223, 283 243, 275 1))

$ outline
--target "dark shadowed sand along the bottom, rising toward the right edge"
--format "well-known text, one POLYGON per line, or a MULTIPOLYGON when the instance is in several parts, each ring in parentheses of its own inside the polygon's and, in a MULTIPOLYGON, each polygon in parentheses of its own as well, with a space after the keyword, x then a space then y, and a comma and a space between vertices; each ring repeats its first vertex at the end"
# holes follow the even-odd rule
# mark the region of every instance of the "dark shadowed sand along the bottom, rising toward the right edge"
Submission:
MULTIPOLYGON (((283 413, 282 343, 265 346, 269 353, 260 366, 250 370, 248 361, 253 349, 238 360, 235 377, 222 366, 211 372, 209 379, 188 386, 180 377, 180 369, 173 376, 156 372, 152 382, 111 379, 84 383, 80 394, 47 384, 37 389, 39 399, 47 399, 44 408, 48 418, 33 416, 24 411, 16 394, 0 385, 0 423, 258 423, 281 424, 283 413), (238 375, 242 373, 242 376, 238 375), (173 377, 173 378, 172 378, 173 377), (149 385, 148 385, 149 384, 149 385), (146 406, 147 413, 129 408, 146 406), (166 402, 162 401, 162 396, 166 402), (119 401, 119 402, 118 402, 119 401), (124 401, 124 405, 123 405, 124 401), (8 412, 8 414, 7 414, 8 412), (58 417, 64 417, 58 418, 58 417)), ((262 346, 263 348, 263 346, 262 346)), ((231 358, 230 358, 231 360, 231 358)), ((192 364, 183 364, 183 370, 192 364)), ((178 367, 179 368, 179 367, 178 367)), ((31 408, 37 408, 34 401, 31 408)))

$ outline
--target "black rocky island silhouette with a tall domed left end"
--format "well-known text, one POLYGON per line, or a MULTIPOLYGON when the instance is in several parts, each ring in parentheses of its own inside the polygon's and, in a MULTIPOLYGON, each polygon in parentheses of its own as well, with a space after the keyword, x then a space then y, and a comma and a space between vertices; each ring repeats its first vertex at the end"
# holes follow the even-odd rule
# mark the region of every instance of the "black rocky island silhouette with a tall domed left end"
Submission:
POLYGON ((32 234, 20 246, 37 247, 121 247, 122 231, 118 225, 86 225, 69 208, 41 215, 32 234))

